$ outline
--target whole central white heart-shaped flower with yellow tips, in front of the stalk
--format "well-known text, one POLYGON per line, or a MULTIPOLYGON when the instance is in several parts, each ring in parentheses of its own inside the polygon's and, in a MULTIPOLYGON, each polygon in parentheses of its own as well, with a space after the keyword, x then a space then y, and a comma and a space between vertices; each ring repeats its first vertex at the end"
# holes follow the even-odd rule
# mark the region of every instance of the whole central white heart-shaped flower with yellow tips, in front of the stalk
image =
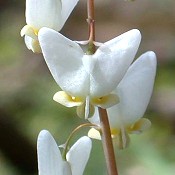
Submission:
MULTIPOLYGON (((42 28, 39 42, 44 58, 63 90, 55 94, 54 100, 67 107, 84 106, 86 117, 92 105, 107 108, 116 104, 118 98, 111 91, 133 61, 140 40, 140 32, 133 29, 88 55, 76 42, 54 30, 42 28)), ((78 113, 84 108, 78 108, 78 113)))

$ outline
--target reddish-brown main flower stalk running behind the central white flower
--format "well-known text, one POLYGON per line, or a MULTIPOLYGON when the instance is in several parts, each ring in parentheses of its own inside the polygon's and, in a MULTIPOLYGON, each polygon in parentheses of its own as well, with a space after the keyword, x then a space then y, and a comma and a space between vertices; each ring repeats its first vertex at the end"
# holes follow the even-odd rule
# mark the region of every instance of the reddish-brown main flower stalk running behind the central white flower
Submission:
MULTIPOLYGON (((87 0, 87 12, 88 12, 87 22, 89 24, 89 46, 87 53, 94 54, 95 53, 94 0, 87 0)), ((106 109, 100 107, 98 108, 98 111, 100 117, 101 139, 106 159, 107 172, 108 175, 118 175, 107 111, 106 109)))

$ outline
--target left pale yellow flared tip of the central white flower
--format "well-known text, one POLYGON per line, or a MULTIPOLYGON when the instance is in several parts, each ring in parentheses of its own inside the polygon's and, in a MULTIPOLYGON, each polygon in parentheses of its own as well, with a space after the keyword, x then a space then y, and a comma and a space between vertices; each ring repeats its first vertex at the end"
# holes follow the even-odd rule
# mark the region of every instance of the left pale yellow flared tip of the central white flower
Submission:
POLYGON ((66 107, 80 106, 84 103, 84 100, 82 98, 72 97, 64 91, 55 93, 53 100, 66 107))

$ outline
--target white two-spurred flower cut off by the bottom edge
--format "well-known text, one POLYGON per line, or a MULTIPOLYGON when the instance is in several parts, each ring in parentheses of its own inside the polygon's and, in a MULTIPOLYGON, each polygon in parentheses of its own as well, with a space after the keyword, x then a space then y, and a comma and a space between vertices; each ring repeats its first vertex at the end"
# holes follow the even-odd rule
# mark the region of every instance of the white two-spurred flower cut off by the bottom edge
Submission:
POLYGON ((42 130, 37 141, 39 175, 82 175, 91 147, 90 138, 81 137, 66 154, 66 160, 63 160, 52 135, 42 130))

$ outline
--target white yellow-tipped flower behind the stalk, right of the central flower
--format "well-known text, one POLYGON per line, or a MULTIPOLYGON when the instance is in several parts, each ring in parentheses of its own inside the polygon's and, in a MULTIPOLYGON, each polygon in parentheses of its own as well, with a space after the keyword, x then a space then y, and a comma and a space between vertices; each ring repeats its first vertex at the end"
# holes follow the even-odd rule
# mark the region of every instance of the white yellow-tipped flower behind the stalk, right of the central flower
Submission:
MULTIPOLYGON (((111 135, 120 148, 129 143, 128 134, 140 133, 147 129, 151 122, 141 118, 151 98, 156 74, 156 55, 149 51, 141 55, 128 69, 124 78, 115 89, 120 102, 107 109, 111 135)), ((90 122, 99 125, 98 113, 90 122)), ((97 130, 91 129, 88 135, 100 139, 97 130)))

